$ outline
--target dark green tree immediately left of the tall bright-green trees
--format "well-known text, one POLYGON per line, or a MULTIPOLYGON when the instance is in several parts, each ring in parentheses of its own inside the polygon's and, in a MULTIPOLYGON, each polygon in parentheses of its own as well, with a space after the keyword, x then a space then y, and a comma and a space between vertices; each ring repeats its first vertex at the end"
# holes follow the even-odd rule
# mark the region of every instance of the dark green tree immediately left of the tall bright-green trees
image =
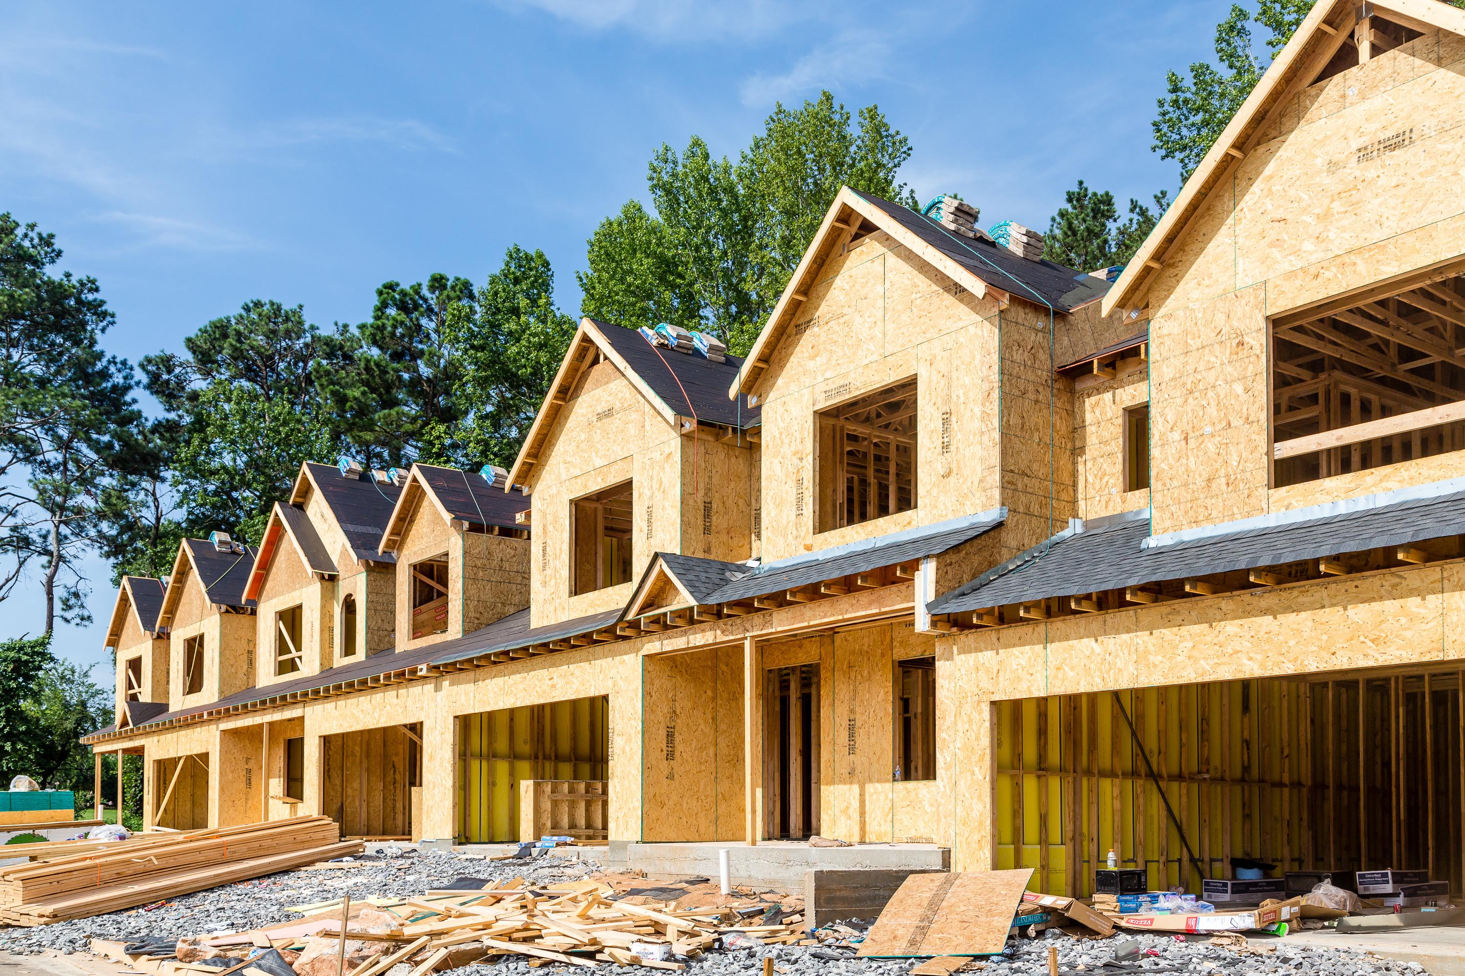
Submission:
POLYGON ((549 259, 511 246, 479 290, 476 315, 464 304, 447 329, 463 350, 464 461, 511 467, 574 338, 574 319, 554 303, 549 259))

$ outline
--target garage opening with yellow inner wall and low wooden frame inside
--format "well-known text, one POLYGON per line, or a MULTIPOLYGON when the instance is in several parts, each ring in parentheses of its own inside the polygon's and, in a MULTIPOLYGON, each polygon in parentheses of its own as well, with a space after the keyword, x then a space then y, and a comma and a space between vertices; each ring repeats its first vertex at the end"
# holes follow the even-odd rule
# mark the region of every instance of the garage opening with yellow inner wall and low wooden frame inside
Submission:
POLYGON ((605 840, 608 714, 595 695, 459 716, 459 840, 605 840))

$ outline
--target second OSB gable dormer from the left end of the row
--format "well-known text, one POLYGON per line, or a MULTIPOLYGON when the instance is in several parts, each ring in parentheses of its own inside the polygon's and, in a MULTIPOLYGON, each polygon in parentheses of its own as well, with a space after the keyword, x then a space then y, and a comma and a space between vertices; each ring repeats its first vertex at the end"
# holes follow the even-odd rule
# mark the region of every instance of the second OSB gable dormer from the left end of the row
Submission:
POLYGON ((168 708, 218 701, 255 683, 255 550, 226 533, 179 543, 158 626, 168 629, 168 708))

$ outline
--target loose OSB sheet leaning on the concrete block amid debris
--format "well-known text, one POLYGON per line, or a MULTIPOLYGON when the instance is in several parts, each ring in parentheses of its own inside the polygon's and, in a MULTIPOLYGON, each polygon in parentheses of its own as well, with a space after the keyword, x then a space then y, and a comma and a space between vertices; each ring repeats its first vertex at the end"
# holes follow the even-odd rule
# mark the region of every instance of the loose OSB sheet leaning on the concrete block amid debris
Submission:
POLYGON ((908 876, 870 926, 860 956, 1002 951, 1031 868, 908 876))

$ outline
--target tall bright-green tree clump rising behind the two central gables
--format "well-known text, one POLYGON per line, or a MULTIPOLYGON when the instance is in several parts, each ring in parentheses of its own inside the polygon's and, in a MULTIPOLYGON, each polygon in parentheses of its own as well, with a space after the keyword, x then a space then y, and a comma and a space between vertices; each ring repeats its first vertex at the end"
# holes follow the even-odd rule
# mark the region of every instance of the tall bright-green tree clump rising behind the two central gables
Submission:
POLYGON ((876 105, 854 116, 829 92, 775 105, 737 162, 697 136, 680 155, 662 145, 648 167, 653 211, 633 200, 590 237, 580 307, 708 331, 744 353, 841 186, 916 205, 897 180, 910 154, 876 105))

